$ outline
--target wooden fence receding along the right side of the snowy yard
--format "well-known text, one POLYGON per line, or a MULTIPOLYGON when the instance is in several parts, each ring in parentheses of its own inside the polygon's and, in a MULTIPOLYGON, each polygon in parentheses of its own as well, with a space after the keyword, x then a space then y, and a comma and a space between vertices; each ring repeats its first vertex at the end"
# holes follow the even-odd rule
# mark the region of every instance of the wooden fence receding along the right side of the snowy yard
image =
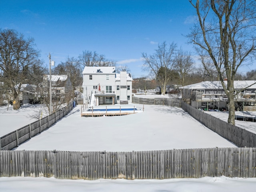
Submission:
POLYGON ((256 134, 206 114, 182 101, 182 109, 238 147, 256 147, 256 134))

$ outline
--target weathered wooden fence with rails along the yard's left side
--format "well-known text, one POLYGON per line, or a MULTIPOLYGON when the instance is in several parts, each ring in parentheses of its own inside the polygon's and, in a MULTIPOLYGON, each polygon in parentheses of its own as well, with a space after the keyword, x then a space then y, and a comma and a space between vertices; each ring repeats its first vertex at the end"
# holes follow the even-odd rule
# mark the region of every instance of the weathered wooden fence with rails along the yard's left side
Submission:
POLYGON ((67 106, 57 110, 51 115, 2 136, 0 138, 0 150, 12 150, 13 148, 18 147, 19 144, 36 136, 36 134, 41 133, 62 117, 66 116, 72 108, 73 102, 70 102, 67 106))

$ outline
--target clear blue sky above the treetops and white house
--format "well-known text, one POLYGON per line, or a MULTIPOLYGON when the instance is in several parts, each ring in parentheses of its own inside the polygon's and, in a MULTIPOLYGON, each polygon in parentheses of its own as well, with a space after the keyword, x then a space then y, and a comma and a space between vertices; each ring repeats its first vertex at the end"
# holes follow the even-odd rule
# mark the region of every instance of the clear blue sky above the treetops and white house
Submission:
POLYGON ((138 78, 147 76, 142 52, 152 54, 164 41, 193 50, 184 35, 194 15, 188 0, 1 0, 0 28, 34 38, 46 64, 49 52, 59 64, 90 50, 138 78))

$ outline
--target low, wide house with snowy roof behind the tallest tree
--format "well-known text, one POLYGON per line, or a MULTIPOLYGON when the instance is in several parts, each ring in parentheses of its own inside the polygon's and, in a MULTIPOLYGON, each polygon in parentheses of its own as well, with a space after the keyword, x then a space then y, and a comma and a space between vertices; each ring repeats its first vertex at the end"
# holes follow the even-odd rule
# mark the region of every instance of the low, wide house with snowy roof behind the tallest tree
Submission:
MULTIPOLYGON (((225 81, 227 84, 227 81, 225 81)), ((234 81, 237 110, 256 110, 256 81, 234 81)), ((180 87, 182 99, 196 108, 227 108, 228 98, 220 81, 205 81, 180 87)))

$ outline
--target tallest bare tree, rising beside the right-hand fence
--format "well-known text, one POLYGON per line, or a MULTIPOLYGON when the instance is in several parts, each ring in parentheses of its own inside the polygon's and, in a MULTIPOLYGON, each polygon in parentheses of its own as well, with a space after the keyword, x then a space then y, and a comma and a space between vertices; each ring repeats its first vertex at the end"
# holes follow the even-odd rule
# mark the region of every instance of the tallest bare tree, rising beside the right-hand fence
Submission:
POLYGON ((235 124, 234 78, 241 65, 255 59, 256 1, 189 1, 196 10, 198 23, 187 37, 212 59, 228 97, 228 123, 235 124), (228 78, 227 84, 224 77, 228 78))

